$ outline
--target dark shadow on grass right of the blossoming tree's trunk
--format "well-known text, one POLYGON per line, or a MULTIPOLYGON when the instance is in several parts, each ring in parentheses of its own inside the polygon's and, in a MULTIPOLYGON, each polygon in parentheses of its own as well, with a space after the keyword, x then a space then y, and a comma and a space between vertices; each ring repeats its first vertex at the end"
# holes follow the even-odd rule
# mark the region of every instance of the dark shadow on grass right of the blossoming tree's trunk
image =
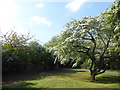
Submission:
POLYGON ((106 76, 100 76, 96 78, 95 83, 103 83, 103 84, 112 84, 112 83, 118 83, 120 84, 120 75, 114 76, 114 75, 106 75, 106 76))

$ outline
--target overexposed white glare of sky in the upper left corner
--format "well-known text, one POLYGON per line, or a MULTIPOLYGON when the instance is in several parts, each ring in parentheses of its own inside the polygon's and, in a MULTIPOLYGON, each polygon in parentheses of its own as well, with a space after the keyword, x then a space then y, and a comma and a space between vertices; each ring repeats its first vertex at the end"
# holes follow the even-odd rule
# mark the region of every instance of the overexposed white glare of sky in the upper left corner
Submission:
POLYGON ((24 30, 15 29, 14 24, 12 23, 18 12, 19 7, 15 1, 0 0, 0 29, 2 34, 6 33, 8 30, 26 33, 24 30))

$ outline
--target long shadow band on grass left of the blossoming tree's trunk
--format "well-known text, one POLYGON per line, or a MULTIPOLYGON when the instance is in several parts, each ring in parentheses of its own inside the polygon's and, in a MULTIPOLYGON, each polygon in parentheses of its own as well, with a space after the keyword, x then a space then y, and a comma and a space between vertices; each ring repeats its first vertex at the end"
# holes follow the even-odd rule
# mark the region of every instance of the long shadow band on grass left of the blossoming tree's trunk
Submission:
MULTIPOLYGON (((27 88, 28 87, 29 88, 29 86, 35 85, 35 84, 31 83, 31 81, 33 81, 33 80, 42 80, 42 79, 49 77, 49 76, 63 76, 63 77, 68 76, 68 77, 73 78, 73 76, 71 74, 75 74, 78 72, 86 72, 86 71, 54 70, 54 71, 40 72, 40 73, 33 73, 33 74, 30 73, 29 75, 21 73, 20 74, 21 76, 14 75, 14 79, 9 78, 9 76, 8 76, 8 78, 10 80, 3 82, 3 87, 5 87, 5 88, 7 88, 7 87, 27 88), (30 82, 27 82, 27 81, 30 81, 30 82)), ((44 88, 47 88, 47 87, 44 87, 44 88)))

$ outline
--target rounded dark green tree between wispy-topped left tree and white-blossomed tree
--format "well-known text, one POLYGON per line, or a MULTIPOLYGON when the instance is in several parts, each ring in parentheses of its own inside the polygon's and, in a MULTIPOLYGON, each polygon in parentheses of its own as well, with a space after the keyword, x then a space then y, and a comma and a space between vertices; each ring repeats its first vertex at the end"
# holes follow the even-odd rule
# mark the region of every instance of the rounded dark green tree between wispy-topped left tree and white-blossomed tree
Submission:
POLYGON ((52 54, 45 47, 40 45, 38 41, 30 41, 28 47, 30 48, 28 53, 30 63, 41 64, 45 69, 53 68, 54 60, 52 54))

